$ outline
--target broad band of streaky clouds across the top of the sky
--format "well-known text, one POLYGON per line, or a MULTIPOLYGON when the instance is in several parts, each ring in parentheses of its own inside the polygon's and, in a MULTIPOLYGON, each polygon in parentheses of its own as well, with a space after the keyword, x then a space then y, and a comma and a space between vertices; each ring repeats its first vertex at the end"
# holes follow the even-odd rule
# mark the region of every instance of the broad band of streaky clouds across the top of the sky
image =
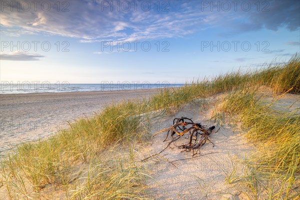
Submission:
MULTIPOLYGON (((37 10, 23 9, 10 10, 10 4, 17 0, 7 1, 7 7, 1 11, 0 24, 6 29, 3 33, 13 35, 12 27, 21 29, 15 35, 43 31, 68 37, 80 38, 80 42, 98 42, 101 40, 133 41, 159 38, 182 37, 195 31, 207 28, 225 27, 223 35, 256 31, 262 28, 277 30, 286 27, 294 31, 299 29, 299 1, 268 0, 260 3, 251 3, 251 10, 245 11, 238 3, 237 10, 231 5, 229 11, 214 10, 211 7, 203 9, 200 1, 160 1, 159 10, 155 7, 156 1, 151 3, 152 9, 145 11, 141 7, 143 0, 138 1, 137 8, 131 4, 129 11, 123 7, 113 8, 111 4, 123 1, 105 1, 109 7, 104 7, 100 0, 68 0, 65 11, 60 6, 57 11, 57 2, 39 0, 37 10), (51 9, 42 10, 40 5, 46 1, 51 3, 51 9), (55 4, 56 3, 56 4, 55 4), (163 8, 166 7, 166 10, 163 8), (258 10, 257 10, 258 9, 258 10), (262 9, 265 9, 264 11, 262 9)), ((25 0, 18 0, 22 3, 25 0)), ((127 1, 126 1, 127 2, 127 1)), ((128 1, 131 2, 131 1, 128 1)), ((132 1, 133 2, 133 1, 132 1)), ((207 1, 210 4, 219 1, 207 1)), ((258 1, 259 2, 259 1, 258 1)), ((33 6, 33 5, 32 5, 33 6)), ((2 28, 3 29, 3 28, 2 28)), ((219 31, 221 33, 222 30, 219 31)))

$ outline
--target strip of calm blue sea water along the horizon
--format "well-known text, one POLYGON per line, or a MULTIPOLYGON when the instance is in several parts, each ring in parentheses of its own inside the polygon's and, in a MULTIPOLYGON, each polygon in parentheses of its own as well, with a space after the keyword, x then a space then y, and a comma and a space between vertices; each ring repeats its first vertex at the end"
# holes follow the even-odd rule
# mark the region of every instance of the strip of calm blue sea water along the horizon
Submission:
POLYGON ((0 94, 12 93, 38 93, 38 92, 71 92, 71 91, 122 91, 122 90, 149 90, 163 87, 180 87, 184 84, 170 84, 167 82, 159 84, 151 83, 101 83, 101 84, 70 84, 68 82, 57 83, 30 83, 27 82, 2 82, 0 94))

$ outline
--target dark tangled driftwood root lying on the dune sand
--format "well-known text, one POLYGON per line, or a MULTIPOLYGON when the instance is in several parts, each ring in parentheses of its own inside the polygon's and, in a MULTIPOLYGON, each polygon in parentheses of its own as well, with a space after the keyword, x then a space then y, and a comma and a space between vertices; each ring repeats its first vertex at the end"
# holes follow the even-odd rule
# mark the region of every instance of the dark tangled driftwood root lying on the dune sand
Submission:
MULTIPOLYGON (((188 137, 188 143, 182 144, 177 146, 178 148, 183 148, 183 151, 193 151, 193 155, 197 154, 199 151, 199 148, 206 143, 208 140, 210 143, 212 143, 209 139, 209 134, 212 132, 212 130, 215 128, 215 126, 205 127, 204 125, 201 125, 200 123, 194 123, 190 118, 187 117, 181 117, 181 118, 174 118, 173 119, 173 125, 164 128, 162 130, 157 131, 155 135, 161 132, 167 131, 166 137, 163 141, 165 141, 170 133, 170 136, 172 137, 172 140, 168 142, 166 147, 162 149, 160 152, 155 153, 154 155, 158 155, 163 150, 165 150, 171 143, 181 138, 185 133, 189 133, 188 137), (175 136, 174 136, 175 135, 175 136)), ((218 130, 217 130, 218 131, 218 130)), ((217 132, 216 131, 216 132, 217 132)), ((175 145, 175 144, 174 144, 175 145)), ((175 145, 176 146, 176 145, 175 145)), ((212 147, 214 144, 212 143, 212 147)), ((146 157, 143 160, 146 160, 154 155, 151 155, 149 157, 146 157)))

